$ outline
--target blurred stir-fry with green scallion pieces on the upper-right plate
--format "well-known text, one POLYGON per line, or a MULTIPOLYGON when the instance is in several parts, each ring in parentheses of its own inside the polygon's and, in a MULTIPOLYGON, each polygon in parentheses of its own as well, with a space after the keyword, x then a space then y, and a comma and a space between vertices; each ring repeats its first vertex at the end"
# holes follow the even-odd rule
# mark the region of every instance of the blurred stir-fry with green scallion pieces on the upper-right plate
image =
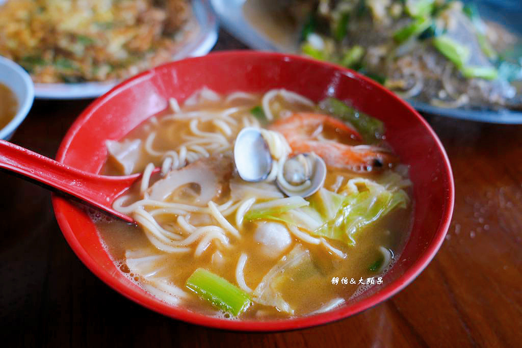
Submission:
POLYGON ((471 3, 319 0, 289 6, 305 18, 302 52, 361 71, 404 98, 441 107, 522 109, 522 42, 482 20, 471 3))

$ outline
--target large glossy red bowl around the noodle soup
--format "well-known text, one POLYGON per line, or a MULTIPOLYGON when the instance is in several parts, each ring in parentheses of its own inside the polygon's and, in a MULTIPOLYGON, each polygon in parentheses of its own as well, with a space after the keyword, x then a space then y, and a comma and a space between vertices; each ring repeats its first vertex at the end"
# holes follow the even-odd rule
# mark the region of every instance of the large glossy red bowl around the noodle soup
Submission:
POLYGON ((183 101, 203 86, 219 93, 286 88, 314 101, 334 96, 351 100, 357 109, 381 119, 388 142, 411 167, 414 218, 400 259, 383 284, 327 313, 260 322, 218 319, 172 307, 129 281, 111 261, 84 210, 53 196, 56 219, 67 242, 102 281, 132 301, 175 319, 222 329, 272 331, 310 327, 358 313, 393 296, 428 265, 444 240, 453 212, 453 177, 444 148, 411 106, 372 80, 336 65, 294 55, 241 51, 157 67, 95 100, 67 132, 57 160, 98 173, 107 155, 106 139, 122 138, 149 116, 166 109, 169 97, 183 101))

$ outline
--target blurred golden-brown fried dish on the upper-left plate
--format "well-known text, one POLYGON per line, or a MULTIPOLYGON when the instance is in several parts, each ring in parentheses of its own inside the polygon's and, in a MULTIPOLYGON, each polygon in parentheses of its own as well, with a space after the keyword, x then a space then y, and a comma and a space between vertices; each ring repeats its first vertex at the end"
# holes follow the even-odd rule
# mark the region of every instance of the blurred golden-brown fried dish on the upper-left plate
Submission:
POLYGON ((35 82, 122 79, 170 61, 191 18, 188 0, 7 0, 0 55, 35 82))

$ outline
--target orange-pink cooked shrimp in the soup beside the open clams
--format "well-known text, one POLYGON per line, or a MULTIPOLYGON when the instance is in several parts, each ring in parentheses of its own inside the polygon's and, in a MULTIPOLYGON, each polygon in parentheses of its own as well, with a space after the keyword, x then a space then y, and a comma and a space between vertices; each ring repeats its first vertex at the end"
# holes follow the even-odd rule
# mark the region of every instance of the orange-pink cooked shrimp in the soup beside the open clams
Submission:
POLYGON ((281 133, 292 148, 292 153, 315 152, 334 169, 353 172, 370 172, 388 167, 397 158, 384 148, 370 145, 350 146, 333 140, 319 141, 313 138, 325 128, 334 130, 341 138, 362 141, 355 128, 334 117, 315 113, 296 113, 280 119, 270 126, 281 133))

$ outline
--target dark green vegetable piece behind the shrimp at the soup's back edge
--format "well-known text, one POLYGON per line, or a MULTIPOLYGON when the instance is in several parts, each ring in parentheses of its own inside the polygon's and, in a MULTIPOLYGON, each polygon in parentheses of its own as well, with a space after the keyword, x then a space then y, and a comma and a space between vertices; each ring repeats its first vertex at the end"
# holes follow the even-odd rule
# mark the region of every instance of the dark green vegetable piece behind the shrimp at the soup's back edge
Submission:
POLYGON ((375 142, 384 134, 384 124, 381 121, 353 109, 339 99, 324 99, 319 102, 318 107, 330 115, 350 122, 367 142, 375 142))

